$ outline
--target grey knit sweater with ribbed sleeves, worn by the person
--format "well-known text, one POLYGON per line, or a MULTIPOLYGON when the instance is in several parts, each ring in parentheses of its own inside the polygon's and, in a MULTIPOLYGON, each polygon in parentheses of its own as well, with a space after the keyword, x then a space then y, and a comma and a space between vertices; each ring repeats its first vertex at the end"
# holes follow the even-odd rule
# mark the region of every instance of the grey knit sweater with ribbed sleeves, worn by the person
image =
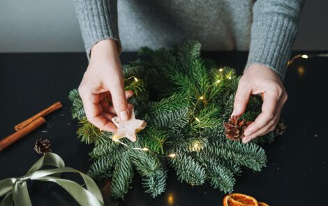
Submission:
POLYGON ((246 68, 263 64, 281 78, 302 0, 73 0, 89 57, 103 39, 119 50, 153 49, 195 39, 202 50, 248 50, 246 68))

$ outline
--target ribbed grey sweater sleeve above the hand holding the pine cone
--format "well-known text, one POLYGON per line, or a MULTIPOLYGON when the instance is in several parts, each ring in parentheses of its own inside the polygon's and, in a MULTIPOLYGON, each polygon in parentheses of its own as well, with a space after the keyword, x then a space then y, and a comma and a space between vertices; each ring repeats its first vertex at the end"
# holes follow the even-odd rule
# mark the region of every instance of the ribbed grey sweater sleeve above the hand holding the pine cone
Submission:
POLYGON ((302 0, 255 1, 246 69, 251 64, 262 64, 285 78, 303 3, 302 0))

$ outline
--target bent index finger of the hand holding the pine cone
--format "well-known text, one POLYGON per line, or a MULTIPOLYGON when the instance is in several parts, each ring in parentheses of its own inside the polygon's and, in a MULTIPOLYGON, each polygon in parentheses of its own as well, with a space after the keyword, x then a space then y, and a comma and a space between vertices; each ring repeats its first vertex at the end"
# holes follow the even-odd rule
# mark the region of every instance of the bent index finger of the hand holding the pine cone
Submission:
POLYGON ((264 94, 262 112, 255 119, 255 122, 250 124, 245 130, 245 137, 251 136, 253 133, 258 132, 262 127, 267 124, 274 125, 274 116, 279 98, 274 94, 264 94))

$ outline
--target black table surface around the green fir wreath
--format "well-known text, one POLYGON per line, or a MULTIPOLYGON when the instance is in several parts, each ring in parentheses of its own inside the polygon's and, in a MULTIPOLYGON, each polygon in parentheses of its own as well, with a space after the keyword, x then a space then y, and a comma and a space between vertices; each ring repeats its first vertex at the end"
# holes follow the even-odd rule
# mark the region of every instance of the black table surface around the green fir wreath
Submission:
MULTIPOLYGON (((236 68, 238 73, 247 59, 247 52, 203 55, 218 66, 236 68)), ((135 53, 123 53, 121 61, 136 57, 135 53)), ((64 104, 63 109, 46 117, 47 124, 0 153, 0 179, 20 177, 29 170, 40 158, 33 146, 41 137, 50 140, 67 166, 87 172, 91 145, 77 139, 77 122, 70 116, 67 98, 68 92, 78 87, 85 68, 87 58, 82 53, 0 54, 0 138, 52 103, 64 104)), ((270 205, 328 205, 327 76, 328 58, 297 59, 290 66, 285 78, 289 99, 282 113, 288 129, 283 137, 264 146, 267 167, 262 172, 245 168, 237 177, 234 192, 270 205)), ((28 186, 33 205, 77 205, 59 186, 31 181, 28 186)), ((172 170, 165 193, 155 199, 144 193, 137 172, 124 200, 112 200, 107 190, 103 189, 106 205, 222 205, 224 196, 209 184, 181 183, 172 170)))

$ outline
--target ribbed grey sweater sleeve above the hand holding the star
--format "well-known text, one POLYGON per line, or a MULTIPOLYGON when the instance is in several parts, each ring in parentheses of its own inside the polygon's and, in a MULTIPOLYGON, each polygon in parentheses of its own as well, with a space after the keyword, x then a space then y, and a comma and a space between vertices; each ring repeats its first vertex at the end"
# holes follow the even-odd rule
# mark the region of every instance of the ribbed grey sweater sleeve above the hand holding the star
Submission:
POLYGON ((88 59, 91 47, 111 38, 121 52, 117 26, 117 0, 73 0, 88 59))

